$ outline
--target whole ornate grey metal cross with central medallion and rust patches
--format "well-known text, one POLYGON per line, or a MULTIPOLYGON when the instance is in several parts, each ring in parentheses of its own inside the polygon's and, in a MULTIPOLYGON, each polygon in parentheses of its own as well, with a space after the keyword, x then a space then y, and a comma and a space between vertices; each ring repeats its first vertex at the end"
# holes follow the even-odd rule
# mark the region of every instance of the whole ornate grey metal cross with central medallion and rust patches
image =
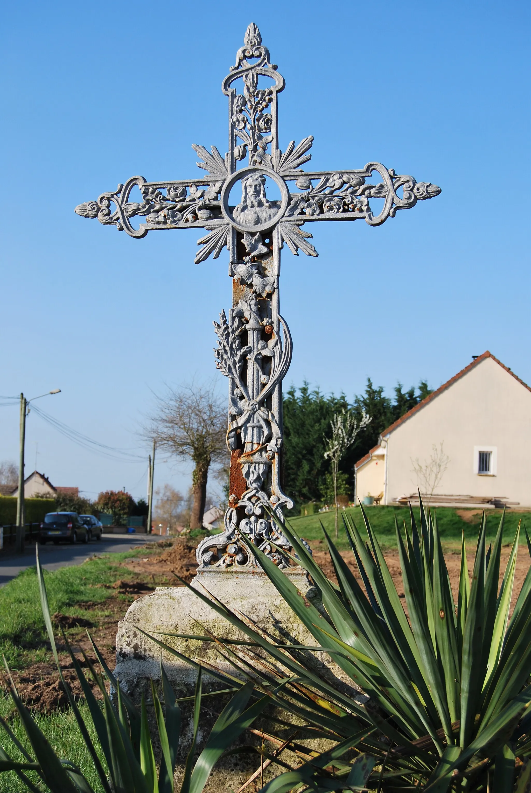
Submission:
POLYGON ((205 228, 196 263, 210 255, 217 259, 224 247, 229 249, 233 308, 228 317, 221 312, 214 326, 217 368, 229 377, 230 496, 225 531, 198 546, 202 567, 254 565, 238 530, 280 568, 289 564, 282 552, 289 550, 287 540, 270 518, 271 512, 281 518, 283 508, 293 506, 280 476, 282 380, 291 362, 290 331, 279 313, 284 243, 294 255, 300 250, 317 256, 309 242, 312 235, 302 228, 305 223, 365 220, 379 226, 398 209, 441 193, 430 182, 398 176, 380 163, 367 163, 360 170, 303 171, 314 139, 308 136, 298 146, 291 141, 280 151, 278 95, 283 88, 284 79, 271 63, 259 29, 249 25, 244 47, 222 83, 229 98, 225 157, 214 146, 209 153, 194 145, 202 159, 198 167, 207 172, 204 178, 146 182, 133 176, 114 193, 102 193, 98 201, 75 208, 78 215, 97 217, 132 237, 160 229, 205 228), (240 80, 243 90, 238 94, 234 84, 240 80), (372 174, 379 180, 373 184, 372 174), (129 201, 136 186, 142 201, 129 201), (383 206, 374 214, 370 202, 378 198, 383 206), (133 228, 135 216, 145 219, 140 228, 133 228))

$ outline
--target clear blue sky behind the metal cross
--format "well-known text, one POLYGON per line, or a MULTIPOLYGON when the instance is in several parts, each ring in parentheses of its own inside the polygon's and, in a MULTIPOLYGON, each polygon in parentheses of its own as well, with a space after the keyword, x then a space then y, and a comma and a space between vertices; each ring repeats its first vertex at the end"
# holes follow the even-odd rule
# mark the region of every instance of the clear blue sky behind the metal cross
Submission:
MULTIPOLYGON (((219 377, 226 251, 197 266, 194 231, 130 239, 73 210, 134 174, 193 177, 193 143, 225 151, 221 80, 250 21, 287 81, 281 147, 311 134, 307 167, 378 160, 442 188, 380 228, 311 224, 318 259, 283 253, 285 384, 437 387, 487 349, 531 382, 528 2, 17 2, 2 17, 2 395, 60 388, 40 408, 147 458, 153 392, 219 377)), ((0 408, 0 460, 17 458, 17 423, 0 408)), ((144 460, 79 449, 34 412, 26 448, 26 473, 37 450, 56 485, 145 494, 144 460)), ((189 481, 157 468, 156 485, 189 481)))

